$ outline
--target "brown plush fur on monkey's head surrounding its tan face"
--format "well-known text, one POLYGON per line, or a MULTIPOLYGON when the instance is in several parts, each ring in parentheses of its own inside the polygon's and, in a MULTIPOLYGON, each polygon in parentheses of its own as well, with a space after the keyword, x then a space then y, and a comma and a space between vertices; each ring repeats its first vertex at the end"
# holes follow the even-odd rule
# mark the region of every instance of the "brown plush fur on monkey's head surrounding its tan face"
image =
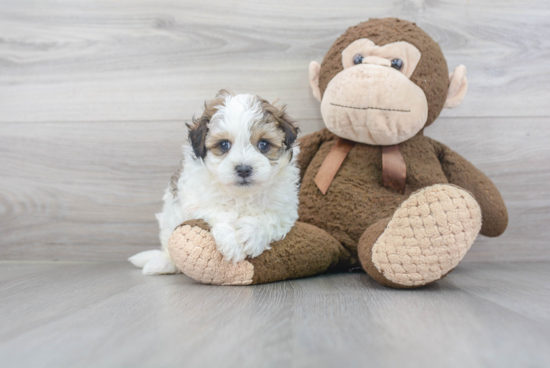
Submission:
POLYGON ((411 81, 418 85, 426 94, 428 100, 428 120, 426 126, 433 123, 439 116, 449 87, 449 71, 447 61, 439 45, 416 24, 397 19, 370 19, 348 28, 325 55, 321 63, 319 88, 324 94, 330 80, 343 70, 342 51, 353 41, 368 38, 378 46, 388 43, 405 41, 420 50, 420 62, 411 75, 411 81))

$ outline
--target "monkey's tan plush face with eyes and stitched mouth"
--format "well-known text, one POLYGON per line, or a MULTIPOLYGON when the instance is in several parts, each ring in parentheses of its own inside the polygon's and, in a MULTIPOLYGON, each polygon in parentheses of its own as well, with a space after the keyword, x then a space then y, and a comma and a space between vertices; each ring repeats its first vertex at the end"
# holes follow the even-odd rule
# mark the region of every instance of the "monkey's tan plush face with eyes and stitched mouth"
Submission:
POLYGON ((424 91, 409 78, 420 51, 408 42, 377 46, 355 40, 342 52, 343 70, 328 83, 321 113, 334 134, 373 145, 401 143, 428 117, 424 91))

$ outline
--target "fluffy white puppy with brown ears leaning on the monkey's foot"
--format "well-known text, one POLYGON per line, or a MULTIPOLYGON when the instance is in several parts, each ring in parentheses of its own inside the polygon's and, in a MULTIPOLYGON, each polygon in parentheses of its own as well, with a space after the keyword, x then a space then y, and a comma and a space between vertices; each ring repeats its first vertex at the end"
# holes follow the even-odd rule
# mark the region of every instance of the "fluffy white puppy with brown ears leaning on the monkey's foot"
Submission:
POLYGON ((129 258, 145 275, 178 272, 168 239, 184 221, 206 221, 225 260, 239 262, 269 249, 298 219, 298 128, 284 107, 222 90, 188 127, 191 146, 157 214, 162 250, 129 258))

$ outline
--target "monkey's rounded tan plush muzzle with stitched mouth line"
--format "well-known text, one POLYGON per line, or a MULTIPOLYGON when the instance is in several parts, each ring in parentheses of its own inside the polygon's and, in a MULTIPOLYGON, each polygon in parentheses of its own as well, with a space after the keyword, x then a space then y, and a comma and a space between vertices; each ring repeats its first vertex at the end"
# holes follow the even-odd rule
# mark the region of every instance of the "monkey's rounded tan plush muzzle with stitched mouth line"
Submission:
POLYGON ((341 138, 392 145, 424 127, 428 106, 424 91, 403 73, 371 64, 335 75, 324 92, 321 114, 341 138))

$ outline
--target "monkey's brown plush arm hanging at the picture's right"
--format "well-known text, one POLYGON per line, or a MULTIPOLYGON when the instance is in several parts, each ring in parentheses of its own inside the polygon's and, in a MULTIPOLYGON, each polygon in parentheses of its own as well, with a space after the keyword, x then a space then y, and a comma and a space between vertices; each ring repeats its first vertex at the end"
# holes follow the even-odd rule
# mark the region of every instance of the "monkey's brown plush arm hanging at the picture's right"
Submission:
POLYGON ((468 190, 479 203, 481 234, 490 237, 501 235, 508 226, 508 211, 495 184, 464 157, 442 143, 431 141, 439 153, 439 161, 449 183, 468 190))

